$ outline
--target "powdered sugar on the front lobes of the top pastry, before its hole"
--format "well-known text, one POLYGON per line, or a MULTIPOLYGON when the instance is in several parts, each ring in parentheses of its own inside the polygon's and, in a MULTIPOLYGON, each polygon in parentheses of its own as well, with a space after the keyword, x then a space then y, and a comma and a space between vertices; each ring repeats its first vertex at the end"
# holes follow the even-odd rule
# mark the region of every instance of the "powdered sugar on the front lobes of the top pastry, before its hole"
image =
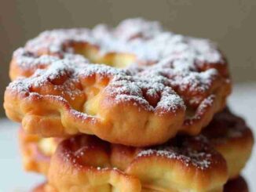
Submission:
MULTIPOLYGON (((57 60, 46 69, 38 69, 30 78, 20 78, 12 82, 8 89, 16 92, 33 92, 33 89, 40 89, 43 86, 51 85, 57 90, 58 96, 64 96, 75 100, 82 90, 76 88, 76 84, 82 83, 80 79, 90 78, 97 74, 101 78, 109 78, 105 88, 109 96, 115 99, 116 103, 130 103, 144 110, 154 111, 161 109, 161 114, 185 109, 185 104, 180 96, 170 87, 163 83, 143 77, 131 76, 129 71, 123 71, 101 64, 74 63, 71 60, 57 60), (64 82, 55 84, 58 79, 64 78, 64 82), (153 101, 152 101, 153 100, 153 101)), ((49 92, 41 93, 53 94, 49 92)), ((81 116, 81 115, 79 115, 81 116)))

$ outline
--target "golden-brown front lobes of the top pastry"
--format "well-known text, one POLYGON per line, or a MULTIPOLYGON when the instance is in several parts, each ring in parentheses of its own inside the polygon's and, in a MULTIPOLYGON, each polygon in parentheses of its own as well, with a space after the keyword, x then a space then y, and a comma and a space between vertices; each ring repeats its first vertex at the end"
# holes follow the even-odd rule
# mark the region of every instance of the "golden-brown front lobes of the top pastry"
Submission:
MULTIPOLYGON (((93 71, 94 67, 88 65, 84 69, 86 73, 90 70, 93 71)), ((14 120, 22 120, 23 127, 27 132, 41 136, 65 136, 84 132, 96 134, 112 143, 134 146, 163 143, 174 136, 177 129, 181 128, 185 108, 176 93, 168 87, 159 84, 158 91, 155 92, 155 94, 159 94, 159 97, 155 98, 157 105, 152 107, 150 100, 154 98, 148 95, 148 101, 146 101, 142 99, 142 95, 136 96, 137 90, 126 92, 126 86, 122 85, 122 82, 125 81, 126 84, 129 82, 130 84, 127 86, 134 86, 135 89, 139 89, 139 92, 150 92, 151 85, 144 84, 147 87, 141 87, 141 83, 136 79, 130 79, 128 82, 122 78, 117 80, 115 77, 113 79, 112 75, 114 74, 106 74, 103 78, 100 74, 104 72, 101 71, 95 72, 93 76, 89 74, 87 77, 81 77, 83 83, 80 84, 76 79, 68 78, 66 80, 65 78, 71 75, 68 72, 67 74, 61 72, 64 77, 54 80, 64 82, 64 85, 68 84, 69 87, 63 87, 58 84, 59 82, 53 84, 53 79, 47 79, 39 87, 30 85, 27 79, 24 79, 23 85, 27 86, 27 89, 20 92, 13 92, 11 85, 5 92, 7 115, 13 117, 14 114, 14 120), (90 92, 100 86, 98 84, 91 85, 89 88, 90 84, 95 82, 102 85, 108 84, 108 86, 100 91, 98 103, 90 104, 90 101, 85 102, 85 100, 90 97, 90 92), (82 87, 87 87, 87 95, 84 94, 86 90, 83 90, 82 87), (31 92, 31 90, 35 92, 31 92), (115 95, 113 90, 119 90, 121 93, 115 95), (55 92, 55 96, 51 96, 50 92, 55 92), (75 92, 75 95, 70 92, 75 92), (61 97, 62 94, 65 99, 61 97), (167 102, 170 103, 163 104, 167 102), (18 106, 16 106, 17 103, 19 103, 18 106), (87 110, 87 105, 97 107, 97 114, 90 115, 79 112, 82 107, 87 110), (134 135, 134 133, 136 134, 134 135), (142 134, 144 137, 139 139, 139 135, 142 134)), ((147 94, 145 93, 145 96, 147 94)), ((91 100, 94 102, 94 96, 91 100)))

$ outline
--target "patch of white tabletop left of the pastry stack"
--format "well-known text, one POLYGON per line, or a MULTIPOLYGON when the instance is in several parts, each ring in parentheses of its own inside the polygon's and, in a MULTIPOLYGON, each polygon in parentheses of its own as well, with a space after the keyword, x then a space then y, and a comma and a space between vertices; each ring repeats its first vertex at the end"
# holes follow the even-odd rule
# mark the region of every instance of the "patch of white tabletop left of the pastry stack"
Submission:
POLYGON ((18 148, 19 125, 7 119, 0 121, 0 192, 27 192, 44 179, 24 172, 18 148))

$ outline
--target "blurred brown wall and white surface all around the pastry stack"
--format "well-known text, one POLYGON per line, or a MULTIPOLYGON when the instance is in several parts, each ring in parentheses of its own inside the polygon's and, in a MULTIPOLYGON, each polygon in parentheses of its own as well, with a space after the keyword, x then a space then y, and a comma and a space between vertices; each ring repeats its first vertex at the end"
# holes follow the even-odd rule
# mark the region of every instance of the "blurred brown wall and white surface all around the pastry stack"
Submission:
MULTIPOLYGON (((0 0, 0 191, 27 191, 44 179, 22 170, 19 125, 4 118, 3 94, 13 51, 47 29, 116 25, 137 16, 217 42, 235 82, 229 106, 256 128, 256 0, 0 0)), ((256 191, 255 165, 256 147, 243 170, 251 191, 256 191)))

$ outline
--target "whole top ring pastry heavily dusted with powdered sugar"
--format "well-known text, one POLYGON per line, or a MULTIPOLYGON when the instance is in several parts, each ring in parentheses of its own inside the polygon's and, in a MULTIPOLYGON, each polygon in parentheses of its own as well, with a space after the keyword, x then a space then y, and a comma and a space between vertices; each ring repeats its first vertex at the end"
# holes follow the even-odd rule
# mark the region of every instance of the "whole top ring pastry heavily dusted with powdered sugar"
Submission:
POLYGON ((213 42, 142 19, 42 32, 13 53, 9 74, 5 111, 27 132, 134 147, 198 134, 231 92, 213 42))

